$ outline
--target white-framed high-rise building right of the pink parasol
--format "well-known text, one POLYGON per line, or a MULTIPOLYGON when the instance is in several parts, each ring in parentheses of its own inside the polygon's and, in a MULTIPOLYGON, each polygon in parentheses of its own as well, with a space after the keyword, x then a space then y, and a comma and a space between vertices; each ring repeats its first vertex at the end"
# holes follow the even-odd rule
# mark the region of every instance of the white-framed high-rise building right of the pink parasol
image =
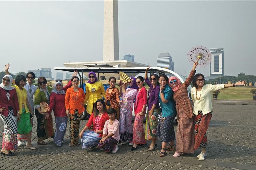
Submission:
POLYGON ((209 79, 215 79, 224 75, 224 49, 223 48, 211 48, 212 61, 210 63, 210 77, 209 79))

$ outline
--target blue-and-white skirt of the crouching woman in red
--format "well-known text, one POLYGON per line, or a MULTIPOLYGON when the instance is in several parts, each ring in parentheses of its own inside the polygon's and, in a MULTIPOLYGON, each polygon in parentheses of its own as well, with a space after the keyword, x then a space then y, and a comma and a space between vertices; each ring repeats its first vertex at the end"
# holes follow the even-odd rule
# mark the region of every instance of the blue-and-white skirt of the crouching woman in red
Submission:
POLYGON ((100 134, 95 133, 94 131, 85 131, 81 139, 82 148, 84 149, 98 145, 101 139, 99 136, 100 134))

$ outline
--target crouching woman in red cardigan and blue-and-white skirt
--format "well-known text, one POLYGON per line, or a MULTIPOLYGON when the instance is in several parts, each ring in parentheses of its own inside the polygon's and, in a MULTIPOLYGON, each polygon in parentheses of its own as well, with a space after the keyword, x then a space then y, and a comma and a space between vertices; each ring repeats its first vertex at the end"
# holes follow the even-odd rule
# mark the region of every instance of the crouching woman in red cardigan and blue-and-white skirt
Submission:
POLYGON ((79 134, 83 149, 88 148, 89 150, 93 150, 98 146, 99 141, 102 138, 105 121, 109 120, 104 100, 98 99, 95 103, 96 107, 94 108, 93 114, 91 114, 90 119, 79 134), (86 131, 91 124, 93 124, 93 130, 86 131))

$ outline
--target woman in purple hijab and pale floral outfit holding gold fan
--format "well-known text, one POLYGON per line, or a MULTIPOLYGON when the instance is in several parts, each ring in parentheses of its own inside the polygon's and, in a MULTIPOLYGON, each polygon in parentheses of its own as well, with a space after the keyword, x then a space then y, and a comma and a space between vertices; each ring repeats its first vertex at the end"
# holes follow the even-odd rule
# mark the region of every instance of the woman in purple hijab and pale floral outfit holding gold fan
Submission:
POLYGON ((131 88, 127 88, 126 84, 120 84, 120 97, 122 97, 122 103, 120 103, 120 118, 119 118, 119 134, 122 144, 129 142, 129 145, 133 145, 132 135, 132 110, 133 100, 136 98, 139 87, 136 85, 136 78, 131 77, 131 88))

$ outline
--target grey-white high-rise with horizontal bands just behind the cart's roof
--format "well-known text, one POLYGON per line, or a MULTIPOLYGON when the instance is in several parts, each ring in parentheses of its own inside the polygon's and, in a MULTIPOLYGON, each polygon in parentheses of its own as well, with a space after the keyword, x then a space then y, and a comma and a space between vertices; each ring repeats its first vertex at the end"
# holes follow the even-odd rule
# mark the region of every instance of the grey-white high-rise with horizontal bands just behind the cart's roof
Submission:
MULTIPOLYGON (((160 53, 157 57, 157 67, 167 68, 169 70, 174 71, 174 62, 172 61, 172 57, 169 53, 160 53)), ((166 74, 168 77, 171 74, 166 74)))

